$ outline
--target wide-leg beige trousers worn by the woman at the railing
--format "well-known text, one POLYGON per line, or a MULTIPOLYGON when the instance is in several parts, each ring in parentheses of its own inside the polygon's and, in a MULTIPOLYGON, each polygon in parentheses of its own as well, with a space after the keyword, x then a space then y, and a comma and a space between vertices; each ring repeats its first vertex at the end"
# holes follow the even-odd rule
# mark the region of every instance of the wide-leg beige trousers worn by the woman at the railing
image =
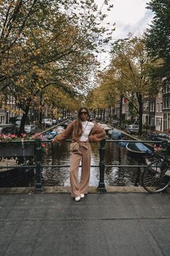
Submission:
POLYGON ((90 179, 91 145, 89 142, 79 142, 79 152, 71 153, 70 185, 71 196, 80 197, 87 194, 90 179), (86 148, 85 148, 86 147, 86 148), (78 179, 81 161, 81 178, 78 179))

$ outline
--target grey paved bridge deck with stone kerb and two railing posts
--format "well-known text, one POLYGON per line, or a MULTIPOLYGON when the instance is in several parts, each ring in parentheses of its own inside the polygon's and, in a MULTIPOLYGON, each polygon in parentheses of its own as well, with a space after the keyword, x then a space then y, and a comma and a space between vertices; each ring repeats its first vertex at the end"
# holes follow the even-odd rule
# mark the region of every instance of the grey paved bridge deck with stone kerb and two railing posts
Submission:
MULTIPOLYGON (((38 144, 39 143, 39 144, 38 144)), ((68 187, 42 187, 40 142, 35 187, 0 188, 0 255, 167 255, 170 194, 142 187, 104 186, 104 145, 99 187, 75 202, 68 187)))

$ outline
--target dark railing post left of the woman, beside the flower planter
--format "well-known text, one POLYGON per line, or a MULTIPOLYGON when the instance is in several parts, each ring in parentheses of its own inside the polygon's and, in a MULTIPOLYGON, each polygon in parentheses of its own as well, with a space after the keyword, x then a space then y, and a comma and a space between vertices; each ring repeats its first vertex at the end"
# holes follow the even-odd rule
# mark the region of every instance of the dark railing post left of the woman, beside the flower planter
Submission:
POLYGON ((35 192, 43 192, 41 177, 41 141, 35 140, 35 192))

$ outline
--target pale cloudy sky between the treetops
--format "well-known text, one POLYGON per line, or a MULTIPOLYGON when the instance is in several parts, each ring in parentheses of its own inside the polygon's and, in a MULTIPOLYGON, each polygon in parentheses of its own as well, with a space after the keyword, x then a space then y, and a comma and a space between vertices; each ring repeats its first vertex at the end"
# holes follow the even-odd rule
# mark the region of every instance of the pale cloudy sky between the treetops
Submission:
MULTIPOLYGON (((110 12, 107 12, 103 6, 104 0, 95 0, 95 2, 99 9, 102 8, 102 12, 108 14, 104 22, 115 23, 114 40, 126 38, 128 33, 142 35, 153 19, 153 13, 146 9, 149 0, 110 0, 109 4, 114 6, 110 12)), ((102 67, 107 66, 109 54, 99 54, 98 60, 102 61, 102 67)))

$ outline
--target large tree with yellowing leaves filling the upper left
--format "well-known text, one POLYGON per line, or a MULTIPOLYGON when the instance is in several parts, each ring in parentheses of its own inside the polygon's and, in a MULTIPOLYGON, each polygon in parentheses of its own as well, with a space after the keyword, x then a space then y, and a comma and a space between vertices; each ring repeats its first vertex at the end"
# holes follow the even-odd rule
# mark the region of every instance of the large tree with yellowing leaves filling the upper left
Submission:
POLYGON ((98 25, 104 15, 94 14, 93 0, 0 3, 1 90, 14 95, 24 113, 21 133, 30 106, 48 86, 66 93, 86 88, 95 69, 94 50, 106 31, 98 25))

